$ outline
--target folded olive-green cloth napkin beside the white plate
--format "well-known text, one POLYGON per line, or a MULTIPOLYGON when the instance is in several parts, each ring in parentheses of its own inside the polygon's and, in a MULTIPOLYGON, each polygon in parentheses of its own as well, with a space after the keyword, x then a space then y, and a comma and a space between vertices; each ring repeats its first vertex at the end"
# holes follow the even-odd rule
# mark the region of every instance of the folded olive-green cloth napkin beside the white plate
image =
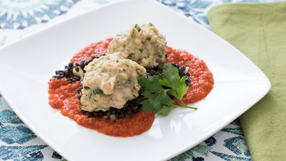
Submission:
POLYGON ((286 1, 223 4, 208 19, 271 81, 270 92, 239 117, 251 157, 286 160, 286 1))

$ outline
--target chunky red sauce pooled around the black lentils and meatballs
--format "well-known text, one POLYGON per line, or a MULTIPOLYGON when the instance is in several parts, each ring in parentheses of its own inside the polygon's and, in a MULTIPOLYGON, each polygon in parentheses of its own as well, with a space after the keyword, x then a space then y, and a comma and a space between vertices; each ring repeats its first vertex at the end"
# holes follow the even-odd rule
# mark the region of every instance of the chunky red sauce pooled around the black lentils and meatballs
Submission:
MULTIPOLYGON (((91 55, 106 53, 111 40, 112 38, 108 38, 105 41, 88 45, 76 53, 71 62, 80 63, 81 60, 89 60, 91 55)), ((184 103, 194 103, 206 97, 214 84, 212 73, 206 64, 185 50, 167 47, 166 52, 166 62, 175 62, 180 66, 190 67, 188 72, 192 81, 189 83, 189 89, 183 97, 184 103)), ((77 88, 80 87, 79 81, 68 84, 66 78, 52 78, 48 83, 49 104, 53 108, 59 109, 64 116, 89 129, 111 136, 130 137, 147 131, 154 122, 153 112, 143 113, 142 110, 133 115, 132 118, 125 117, 116 122, 96 117, 88 118, 87 115, 81 112, 80 100, 77 99, 77 88)))

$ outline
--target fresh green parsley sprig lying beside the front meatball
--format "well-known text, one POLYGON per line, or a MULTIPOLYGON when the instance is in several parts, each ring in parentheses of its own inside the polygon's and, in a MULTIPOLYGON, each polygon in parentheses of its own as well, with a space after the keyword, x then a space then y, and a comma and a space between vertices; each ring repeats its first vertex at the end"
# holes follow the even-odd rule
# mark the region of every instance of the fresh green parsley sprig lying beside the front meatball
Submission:
POLYGON ((138 80, 139 84, 144 87, 142 94, 147 100, 141 102, 143 112, 153 111, 167 116, 174 107, 182 107, 189 109, 197 109, 187 106, 182 97, 188 90, 185 81, 188 76, 179 76, 179 71, 172 64, 167 64, 163 69, 164 76, 154 75, 148 78, 144 77, 138 80), (165 89, 163 88, 165 86, 165 89), (175 105, 174 101, 167 95, 167 92, 175 97, 179 105, 175 105))

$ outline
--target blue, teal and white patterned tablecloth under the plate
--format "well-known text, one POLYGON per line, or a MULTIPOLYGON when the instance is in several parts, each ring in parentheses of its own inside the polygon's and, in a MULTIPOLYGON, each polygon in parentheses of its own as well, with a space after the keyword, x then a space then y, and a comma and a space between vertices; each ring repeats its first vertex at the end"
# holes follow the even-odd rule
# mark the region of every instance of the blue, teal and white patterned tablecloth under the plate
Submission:
MULTIPOLYGON (((43 27, 120 0, 0 0, 0 47, 43 27)), ((159 0, 209 28, 207 11, 215 5, 274 0, 159 0)), ((1 80, 0 80, 1 81, 1 80)), ((0 160, 65 160, 18 118, 0 94, 0 160)), ((238 119, 171 160, 251 160, 238 119)))

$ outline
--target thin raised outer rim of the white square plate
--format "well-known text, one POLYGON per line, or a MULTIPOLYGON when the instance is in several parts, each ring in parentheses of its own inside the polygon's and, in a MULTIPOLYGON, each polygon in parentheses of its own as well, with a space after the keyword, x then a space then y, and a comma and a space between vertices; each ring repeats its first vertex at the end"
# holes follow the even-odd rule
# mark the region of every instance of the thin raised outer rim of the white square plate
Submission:
MULTIPOLYGON (((197 27, 200 27, 201 29, 205 30, 205 32, 209 32, 209 34, 212 34, 213 36, 219 38, 220 40, 224 41, 224 43, 228 44, 229 46, 231 46, 233 49, 237 50, 240 55, 243 55, 248 61, 250 61, 254 66, 257 67, 257 65, 255 65, 248 57, 246 57, 242 52, 240 52, 236 47, 234 47, 233 45, 231 45, 229 42, 227 42, 226 40, 224 40, 223 38, 221 38, 220 36, 216 35, 214 32, 212 32, 211 30, 208 30, 206 27, 203 27, 202 25, 196 23, 195 21, 192 21, 190 20, 189 18, 187 18, 186 16, 184 16, 183 14, 181 13, 178 13, 177 11, 173 10, 172 8, 170 7, 167 7, 166 5, 156 1, 156 0, 122 0, 122 1, 117 1, 117 2, 111 2, 109 4, 104 4, 100 7, 97 7, 97 8, 94 8, 94 9, 91 9, 91 10, 88 10, 86 12, 83 12, 83 13, 80 13, 79 15, 76 15, 76 16, 72 16, 70 18, 67 18, 67 19, 64 19, 64 20, 61 20, 55 24, 52 24, 52 25, 49 25, 47 27, 43 27, 42 29, 40 30, 37 30, 36 32, 33 32, 33 33, 30 33, 22 38, 19 38, 13 42, 10 42, 6 45, 4 45, 3 47, 0 47, 0 51, 4 48, 7 48, 9 47, 10 45, 18 42, 18 41, 23 41, 25 40, 26 38, 29 38, 33 35, 37 35, 38 33, 42 32, 42 31, 45 31, 46 29, 49 29, 49 28, 52 28, 52 27, 56 27, 57 25, 60 25, 60 24, 63 24, 65 23, 66 21, 72 21, 73 19, 77 18, 77 17, 81 17, 81 16, 84 16, 85 14, 89 14, 91 12, 94 12, 95 10, 99 10, 99 9, 102 9, 102 8, 106 8, 106 7, 110 7, 110 6, 114 6, 118 3, 124 3, 124 2, 128 2, 128 1, 140 1, 140 2, 146 2, 148 1, 148 3, 157 3, 159 5, 161 5, 161 7, 164 7, 164 9, 166 10, 169 10, 170 12, 172 12, 173 14, 176 14, 178 16, 181 16, 185 19, 185 21, 189 21, 191 22, 193 25, 196 25, 197 27)), ((261 69, 259 69, 257 67, 258 70, 261 71, 261 69)), ((267 81, 267 87, 265 86, 265 94, 259 99, 261 100, 265 95, 267 95, 267 93, 270 91, 271 89, 271 82, 269 81, 269 78, 264 74, 264 72, 261 71, 261 74, 263 74, 263 76, 265 78, 267 78, 265 81, 267 81)), ((35 133, 36 136, 38 136, 41 140, 43 140, 47 145, 49 145, 49 147, 51 147, 53 150, 55 150, 57 153, 59 153, 63 158, 67 159, 67 160, 74 160, 73 158, 69 157, 68 154, 66 154, 65 152, 61 151, 60 148, 57 148, 53 143, 49 142, 48 140, 46 140, 45 137, 43 137, 41 135, 40 132, 37 131, 37 129, 33 128, 32 125, 30 125, 30 123, 25 119, 25 117, 22 116, 22 114, 17 110, 17 108, 15 108, 14 104, 12 101, 10 101, 10 99, 6 96, 5 92, 2 90, 1 86, 0 86, 0 93, 2 95, 2 97, 4 98, 4 100, 8 103, 8 105, 10 106, 10 108, 13 110, 13 112, 15 112, 15 114, 17 114, 17 116, 23 121, 23 123, 33 131, 33 133, 35 133)), ((235 118, 234 119, 228 119, 228 121, 225 121, 224 123, 220 123, 220 126, 218 126, 219 128, 217 128, 217 130, 213 131, 212 133, 209 133, 209 135, 206 135, 204 137, 200 137, 199 139, 197 139, 195 142, 193 142, 192 144, 190 145, 187 145, 185 147, 182 147, 180 149, 178 149, 177 151, 175 151, 174 153, 172 154, 169 154, 169 155, 166 155, 165 157, 159 159, 159 160, 169 160, 171 159, 172 157, 175 157, 175 156, 178 156, 179 154, 182 154, 184 153, 185 151, 189 150, 190 148, 192 147, 195 147, 196 145, 198 145, 199 143, 203 142, 204 140, 206 140, 207 138, 209 138, 210 136, 214 135, 215 133, 217 133, 218 131, 220 131, 223 127, 225 127, 226 125, 228 125, 229 123, 231 123, 233 120, 235 120, 237 117, 239 117, 241 114, 243 114, 244 112, 246 112, 248 109, 250 109, 255 103, 257 103, 259 100, 257 101, 254 101, 253 104, 250 105, 250 107, 248 108, 245 108, 245 110, 242 110, 241 112, 237 112, 235 114, 235 118)))

